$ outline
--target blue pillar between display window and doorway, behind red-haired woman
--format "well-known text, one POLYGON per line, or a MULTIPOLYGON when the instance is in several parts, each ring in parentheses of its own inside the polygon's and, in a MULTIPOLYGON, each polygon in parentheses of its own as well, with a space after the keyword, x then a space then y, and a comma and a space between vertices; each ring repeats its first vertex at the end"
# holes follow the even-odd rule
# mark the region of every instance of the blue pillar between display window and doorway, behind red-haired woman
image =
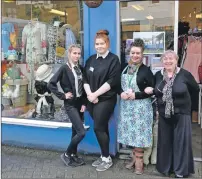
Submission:
MULTIPOLYGON (((116 1, 103 1, 98 8, 88 8, 84 5, 84 62, 92 54, 95 54, 94 39, 96 32, 100 29, 107 29, 110 38, 110 51, 117 54, 117 10, 116 1)), ((109 123, 110 132, 110 153, 115 155, 117 152, 117 106, 109 123)), ((90 125, 88 133, 92 134, 93 139, 86 141, 94 147, 97 152, 99 147, 93 132, 93 121, 87 114, 85 117, 86 125, 90 125)))

